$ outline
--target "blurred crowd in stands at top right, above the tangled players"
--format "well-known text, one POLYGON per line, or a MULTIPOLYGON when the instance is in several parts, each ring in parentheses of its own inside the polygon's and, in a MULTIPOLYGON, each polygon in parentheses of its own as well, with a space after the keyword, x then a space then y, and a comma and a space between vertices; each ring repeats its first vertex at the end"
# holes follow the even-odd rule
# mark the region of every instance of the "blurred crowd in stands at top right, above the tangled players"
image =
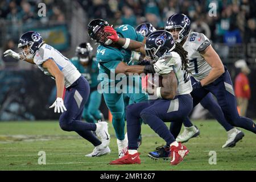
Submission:
POLYGON ((136 27, 150 22, 163 27, 167 18, 184 13, 192 20, 192 30, 203 32, 214 42, 255 42, 256 1, 249 0, 80 0, 89 19, 109 19, 113 24, 131 24, 136 27), (217 14, 210 17, 209 4, 216 3, 217 14), (93 5, 93 6, 91 6, 93 5), (236 35, 236 39, 230 37, 236 35))

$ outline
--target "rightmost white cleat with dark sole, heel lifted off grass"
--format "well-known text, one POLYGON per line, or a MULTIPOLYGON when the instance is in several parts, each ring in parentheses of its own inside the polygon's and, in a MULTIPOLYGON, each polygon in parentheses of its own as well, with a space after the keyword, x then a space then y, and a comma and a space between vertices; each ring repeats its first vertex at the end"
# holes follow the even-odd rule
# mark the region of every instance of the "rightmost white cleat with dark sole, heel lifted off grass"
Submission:
POLYGON ((245 136, 245 134, 242 133, 242 131, 237 130, 236 128, 229 130, 227 133, 228 140, 226 140, 226 143, 222 146, 222 148, 236 146, 236 143, 245 136))

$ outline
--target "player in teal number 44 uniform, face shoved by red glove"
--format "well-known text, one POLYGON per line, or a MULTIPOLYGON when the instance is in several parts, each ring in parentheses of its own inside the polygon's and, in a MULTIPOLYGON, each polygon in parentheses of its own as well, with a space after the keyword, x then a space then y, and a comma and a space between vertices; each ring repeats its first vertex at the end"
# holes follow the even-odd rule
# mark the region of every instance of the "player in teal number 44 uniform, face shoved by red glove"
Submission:
MULTIPOLYGON (((130 61, 131 51, 127 48, 127 44, 120 47, 113 43, 112 38, 122 37, 129 40, 138 40, 139 42, 146 41, 141 34, 138 34, 133 27, 128 24, 123 24, 117 28, 112 28, 109 26, 108 22, 102 19, 93 19, 88 24, 88 34, 90 38, 95 40, 100 44, 97 48, 96 59, 100 65, 100 75, 101 86, 103 90, 104 100, 108 106, 110 112, 113 115, 112 124, 115 130, 115 135, 117 137, 118 145, 118 155, 122 157, 127 148, 127 139, 125 139, 125 107, 123 102, 123 93, 122 89, 117 90, 118 80, 113 80, 113 76, 118 73, 148 73, 148 72, 157 72, 164 73, 168 71, 169 67, 162 65, 158 67, 158 64, 154 65, 127 65, 130 61), (109 32, 106 32, 109 31, 109 32), (112 34, 111 34, 112 32, 112 34), (164 70, 163 70, 164 69, 164 70), (105 77, 107 76, 107 78, 105 77), (114 89, 113 89, 114 88, 114 89), (105 92, 105 90, 107 90, 105 92), (114 90, 114 93, 111 91, 114 90)), ((139 51, 139 50, 135 50, 139 51)), ((123 77, 127 78, 127 77, 123 77)), ((135 79, 139 80, 139 79, 135 79)), ((128 81, 127 81, 128 82, 128 81)), ((135 85, 141 85, 140 83, 135 85)), ((133 89, 127 85, 127 90, 133 89)), ((141 88, 139 88, 141 90, 141 88)), ((146 94, 139 93, 127 93, 126 94, 133 103, 147 101, 148 97, 146 94)))

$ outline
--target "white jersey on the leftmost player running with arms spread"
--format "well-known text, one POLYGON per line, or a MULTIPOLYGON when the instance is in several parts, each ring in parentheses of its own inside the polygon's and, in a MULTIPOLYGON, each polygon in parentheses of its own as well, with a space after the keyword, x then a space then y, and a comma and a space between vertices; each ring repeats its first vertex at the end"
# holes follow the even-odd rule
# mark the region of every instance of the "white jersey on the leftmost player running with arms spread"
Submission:
POLYGON ((42 65, 44 61, 48 59, 55 61, 57 67, 59 67, 60 71, 63 72, 65 88, 71 86, 73 82, 81 76, 81 73, 67 57, 63 56, 59 51, 48 44, 43 44, 43 46, 35 53, 34 63, 38 65, 38 68, 40 68, 44 74, 52 76, 51 73, 49 73, 47 69, 43 68, 42 65))

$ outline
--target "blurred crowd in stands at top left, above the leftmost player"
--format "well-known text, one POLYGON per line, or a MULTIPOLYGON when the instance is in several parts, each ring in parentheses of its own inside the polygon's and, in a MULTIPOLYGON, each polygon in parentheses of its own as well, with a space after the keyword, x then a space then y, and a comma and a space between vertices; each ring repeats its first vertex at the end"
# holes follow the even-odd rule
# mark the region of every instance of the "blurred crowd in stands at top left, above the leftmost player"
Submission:
MULTIPOLYGON (((5 35, 5 39, 1 41, 0 47, 3 52, 6 49, 16 50, 20 36, 20 28, 28 30, 40 24, 40 26, 48 26, 49 24, 65 23, 65 15, 61 7, 61 1, 38 1, 38 0, 2 0, 0 1, 0 23, 6 27, 7 34, 0 31, 0 35, 5 35), (47 7, 47 16, 38 16, 38 4, 43 2, 47 7)), ((18 60, 12 57, 0 59, 0 68, 16 68, 18 60)))

